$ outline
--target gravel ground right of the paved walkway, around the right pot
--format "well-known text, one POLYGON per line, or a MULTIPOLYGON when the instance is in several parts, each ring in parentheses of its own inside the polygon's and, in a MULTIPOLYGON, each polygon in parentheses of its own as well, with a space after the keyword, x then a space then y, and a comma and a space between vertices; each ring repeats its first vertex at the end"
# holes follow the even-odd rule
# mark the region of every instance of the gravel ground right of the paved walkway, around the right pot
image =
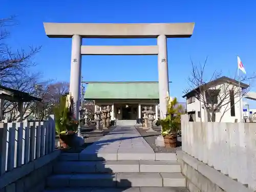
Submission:
POLYGON ((176 153, 177 150, 181 150, 181 138, 177 138, 177 147, 173 148, 166 148, 162 146, 157 146, 155 144, 156 138, 161 135, 160 127, 154 127, 154 130, 156 132, 146 132, 145 130, 142 130, 139 126, 135 126, 137 131, 140 133, 140 135, 145 139, 145 141, 151 146, 151 148, 154 150, 155 153, 176 153))

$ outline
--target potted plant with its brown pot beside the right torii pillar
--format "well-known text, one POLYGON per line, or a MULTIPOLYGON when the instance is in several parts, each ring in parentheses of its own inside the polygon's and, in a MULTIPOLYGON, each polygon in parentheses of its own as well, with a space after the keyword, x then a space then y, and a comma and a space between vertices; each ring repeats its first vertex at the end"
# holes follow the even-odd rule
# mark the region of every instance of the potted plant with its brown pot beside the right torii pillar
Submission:
POLYGON ((178 104, 177 98, 168 102, 167 115, 165 119, 160 120, 162 126, 162 136, 165 147, 176 147, 177 133, 180 130, 180 118, 182 114, 182 105, 178 104))

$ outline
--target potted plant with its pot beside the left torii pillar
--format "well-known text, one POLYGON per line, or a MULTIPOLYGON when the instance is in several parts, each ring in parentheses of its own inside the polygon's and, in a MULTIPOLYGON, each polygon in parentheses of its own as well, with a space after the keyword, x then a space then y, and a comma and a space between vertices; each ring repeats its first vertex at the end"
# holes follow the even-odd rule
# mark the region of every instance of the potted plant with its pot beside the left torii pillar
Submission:
POLYGON ((61 96, 59 103, 54 107, 55 130, 62 148, 72 145, 78 129, 78 121, 73 117, 71 109, 66 106, 66 98, 67 96, 61 96))

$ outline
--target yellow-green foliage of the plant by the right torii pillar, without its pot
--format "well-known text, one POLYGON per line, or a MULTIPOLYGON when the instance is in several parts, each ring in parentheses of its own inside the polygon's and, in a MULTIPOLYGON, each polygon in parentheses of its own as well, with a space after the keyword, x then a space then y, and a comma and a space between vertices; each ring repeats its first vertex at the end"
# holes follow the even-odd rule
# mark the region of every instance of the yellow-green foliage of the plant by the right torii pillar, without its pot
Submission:
POLYGON ((168 102, 166 118, 160 120, 162 136, 177 135, 180 130, 180 118, 182 114, 182 105, 178 104, 177 98, 168 102))

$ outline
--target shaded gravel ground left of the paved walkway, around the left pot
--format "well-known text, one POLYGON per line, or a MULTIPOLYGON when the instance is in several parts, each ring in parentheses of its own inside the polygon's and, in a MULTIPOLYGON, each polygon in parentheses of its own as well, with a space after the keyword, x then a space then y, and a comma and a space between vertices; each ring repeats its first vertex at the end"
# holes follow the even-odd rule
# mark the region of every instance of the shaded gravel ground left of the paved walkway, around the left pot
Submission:
MULTIPOLYGON (((111 127, 109 130, 104 130, 102 132, 96 132, 96 127, 90 127, 87 129, 83 129, 81 131, 81 136, 84 138, 84 144, 76 147, 76 148, 60 148, 62 152, 65 153, 80 153, 84 148, 90 146, 94 142, 101 139, 103 136, 107 135, 111 130, 113 130, 114 127, 111 127)), ((58 143, 59 139, 56 138, 55 145, 58 143)))

